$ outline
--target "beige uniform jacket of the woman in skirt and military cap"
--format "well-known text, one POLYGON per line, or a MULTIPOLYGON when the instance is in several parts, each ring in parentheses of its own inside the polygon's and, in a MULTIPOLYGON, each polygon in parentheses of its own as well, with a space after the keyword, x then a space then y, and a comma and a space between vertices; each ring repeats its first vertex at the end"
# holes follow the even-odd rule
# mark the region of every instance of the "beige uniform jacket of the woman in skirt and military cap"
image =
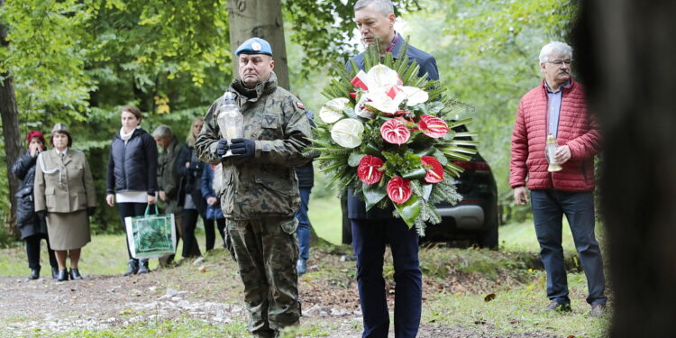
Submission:
POLYGON ((94 179, 84 152, 69 149, 61 161, 56 149, 44 151, 35 167, 35 211, 72 213, 96 206, 94 179))

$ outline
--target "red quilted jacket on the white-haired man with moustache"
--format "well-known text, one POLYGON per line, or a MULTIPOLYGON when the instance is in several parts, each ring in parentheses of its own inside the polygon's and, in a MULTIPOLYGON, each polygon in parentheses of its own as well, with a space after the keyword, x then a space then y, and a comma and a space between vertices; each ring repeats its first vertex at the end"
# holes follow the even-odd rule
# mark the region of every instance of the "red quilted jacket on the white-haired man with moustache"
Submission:
POLYGON ((531 190, 558 189, 591 191, 594 189, 594 155, 600 151, 598 123, 587 112, 584 88, 571 79, 562 88, 561 114, 557 142, 568 145, 571 160, 558 172, 548 172, 544 157, 547 139, 549 100, 543 83, 534 87, 519 102, 512 132, 512 159, 509 186, 526 185, 531 190))

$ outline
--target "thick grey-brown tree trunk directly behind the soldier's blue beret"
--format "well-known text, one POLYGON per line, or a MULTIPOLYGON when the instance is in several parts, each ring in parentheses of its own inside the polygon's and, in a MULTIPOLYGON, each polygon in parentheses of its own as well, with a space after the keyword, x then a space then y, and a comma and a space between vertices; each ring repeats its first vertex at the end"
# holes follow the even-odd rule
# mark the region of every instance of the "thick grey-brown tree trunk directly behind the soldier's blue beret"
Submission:
MULTIPOLYGON (((279 87, 288 87, 287 46, 284 41, 281 2, 279 0, 228 0, 230 50, 237 50, 243 41, 253 37, 265 39, 272 46, 275 74, 279 87)), ((234 60, 233 74, 239 65, 234 60)))

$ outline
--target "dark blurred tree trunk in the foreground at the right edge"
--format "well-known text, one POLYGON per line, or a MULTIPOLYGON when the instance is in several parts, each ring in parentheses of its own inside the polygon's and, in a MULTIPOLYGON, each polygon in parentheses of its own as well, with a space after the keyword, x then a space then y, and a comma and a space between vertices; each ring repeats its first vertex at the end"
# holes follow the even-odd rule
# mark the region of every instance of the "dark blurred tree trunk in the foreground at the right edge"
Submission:
POLYGON ((676 3, 582 3, 576 66, 598 114, 613 337, 669 337, 676 318, 676 3))

